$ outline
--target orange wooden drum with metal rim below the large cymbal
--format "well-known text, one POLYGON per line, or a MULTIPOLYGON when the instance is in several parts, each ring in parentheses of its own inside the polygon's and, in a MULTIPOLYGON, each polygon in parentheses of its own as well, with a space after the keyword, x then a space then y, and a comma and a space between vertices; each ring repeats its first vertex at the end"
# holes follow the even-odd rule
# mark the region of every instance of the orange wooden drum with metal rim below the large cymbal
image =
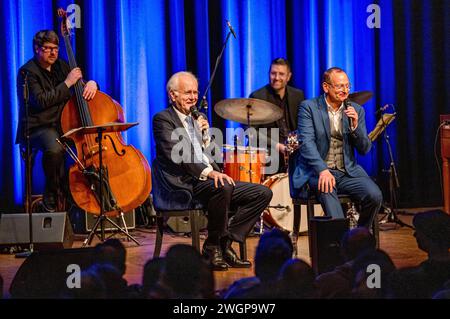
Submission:
POLYGON ((261 184, 266 150, 256 147, 224 147, 224 173, 235 181, 261 184))

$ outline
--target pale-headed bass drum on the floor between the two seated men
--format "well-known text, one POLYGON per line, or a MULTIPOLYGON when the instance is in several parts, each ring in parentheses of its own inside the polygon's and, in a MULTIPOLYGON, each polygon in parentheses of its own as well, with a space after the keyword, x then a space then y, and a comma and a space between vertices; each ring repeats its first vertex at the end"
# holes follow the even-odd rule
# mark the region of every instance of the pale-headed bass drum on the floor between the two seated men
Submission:
MULTIPOLYGON (((264 211, 264 222, 270 227, 278 227, 292 232, 294 228, 294 205, 289 192, 289 176, 286 173, 276 174, 267 178, 263 185, 272 190, 273 197, 269 207, 264 211)), ((308 231, 306 205, 302 205, 300 232, 308 231)), ((320 205, 314 205, 314 215, 323 216, 320 205)))

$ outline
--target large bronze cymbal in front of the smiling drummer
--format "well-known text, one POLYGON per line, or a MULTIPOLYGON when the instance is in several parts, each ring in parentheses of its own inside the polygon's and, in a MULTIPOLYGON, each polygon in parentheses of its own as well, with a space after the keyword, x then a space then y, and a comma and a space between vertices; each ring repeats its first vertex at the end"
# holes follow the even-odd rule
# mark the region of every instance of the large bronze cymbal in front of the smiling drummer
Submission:
POLYGON ((250 125, 268 124, 283 117, 283 110, 275 104, 251 98, 222 100, 214 106, 214 111, 226 120, 250 125))

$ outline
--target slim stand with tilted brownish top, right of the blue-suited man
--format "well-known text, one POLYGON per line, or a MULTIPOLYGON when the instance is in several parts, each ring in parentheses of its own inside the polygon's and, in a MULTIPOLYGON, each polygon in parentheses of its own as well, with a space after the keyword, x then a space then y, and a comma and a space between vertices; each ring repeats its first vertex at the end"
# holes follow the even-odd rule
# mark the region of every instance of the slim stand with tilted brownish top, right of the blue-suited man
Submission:
POLYGON ((370 140, 373 142, 377 139, 378 136, 381 135, 381 133, 383 134, 384 140, 386 141, 386 145, 388 148, 388 152, 389 152, 389 159, 390 159, 390 164, 389 164, 389 169, 385 172, 389 173, 389 206, 385 207, 384 206, 384 210, 385 210, 385 216, 379 220, 378 222, 380 224, 384 224, 384 223, 395 223, 397 225, 399 225, 400 227, 409 227, 409 228, 413 228, 411 225, 408 225, 406 223, 404 223, 402 220, 400 220, 397 216, 397 212, 396 212, 396 207, 397 207, 397 196, 396 196, 396 189, 400 188, 400 182, 398 180, 398 175, 397 175, 397 169, 395 167, 395 162, 394 162, 394 156, 392 154, 392 148, 391 148, 391 143, 389 141, 389 135, 387 134, 387 126, 394 121, 396 116, 396 113, 385 113, 382 114, 381 118, 378 120, 377 125, 375 126, 375 128, 373 129, 372 132, 369 133, 369 138, 370 140))

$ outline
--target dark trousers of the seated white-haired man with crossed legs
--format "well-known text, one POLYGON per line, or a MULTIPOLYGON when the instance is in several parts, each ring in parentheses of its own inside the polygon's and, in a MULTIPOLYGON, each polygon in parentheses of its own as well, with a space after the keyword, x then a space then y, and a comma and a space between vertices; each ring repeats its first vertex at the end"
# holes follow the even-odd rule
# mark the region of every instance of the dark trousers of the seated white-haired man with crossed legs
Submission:
POLYGON ((216 188, 208 179, 194 185, 194 198, 208 208, 208 245, 218 245, 226 236, 243 242, 272 199, 272 191, 264 185, 224 183, 216 188))

